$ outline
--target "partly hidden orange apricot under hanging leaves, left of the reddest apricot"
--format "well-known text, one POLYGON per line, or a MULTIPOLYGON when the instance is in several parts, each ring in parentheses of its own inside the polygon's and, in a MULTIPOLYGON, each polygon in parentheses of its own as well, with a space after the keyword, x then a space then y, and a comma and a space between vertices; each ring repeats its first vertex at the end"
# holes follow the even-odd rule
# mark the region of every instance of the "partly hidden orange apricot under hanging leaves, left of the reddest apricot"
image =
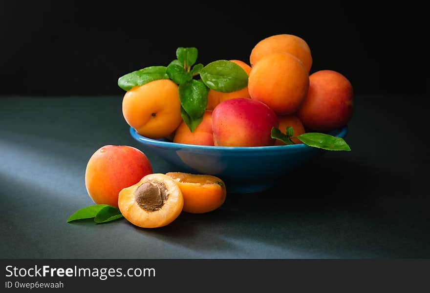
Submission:
POLYGON ((173 142, 198 145, 214 145, 214 135, 212 134, 212 111, 205 111, 200 124, 190 131, 187 124, 182 122, 175 132, 173 142))

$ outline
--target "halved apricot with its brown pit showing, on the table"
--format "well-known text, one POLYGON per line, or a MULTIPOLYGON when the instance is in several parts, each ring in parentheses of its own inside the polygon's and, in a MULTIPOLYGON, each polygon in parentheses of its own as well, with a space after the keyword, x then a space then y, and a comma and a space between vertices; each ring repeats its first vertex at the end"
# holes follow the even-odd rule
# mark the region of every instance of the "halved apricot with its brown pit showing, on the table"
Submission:
POLYGON ((124 188, 118 197, 121 214, 142 228, 166 226, 181 213, 184 198, 176 182, 164 174, 150 174, 124 188))

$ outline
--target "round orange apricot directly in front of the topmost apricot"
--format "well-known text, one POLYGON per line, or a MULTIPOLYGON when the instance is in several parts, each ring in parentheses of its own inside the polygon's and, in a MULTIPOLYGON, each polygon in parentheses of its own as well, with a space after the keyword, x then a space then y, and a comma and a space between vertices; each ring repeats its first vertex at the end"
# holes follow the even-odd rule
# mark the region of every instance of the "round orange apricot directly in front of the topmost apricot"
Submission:
POLYGON ((249 75, 252 99, 265 103, 278 115, 294 114, 309 87, 309 76, 299 59, 274 53, 260 59, 249 75))

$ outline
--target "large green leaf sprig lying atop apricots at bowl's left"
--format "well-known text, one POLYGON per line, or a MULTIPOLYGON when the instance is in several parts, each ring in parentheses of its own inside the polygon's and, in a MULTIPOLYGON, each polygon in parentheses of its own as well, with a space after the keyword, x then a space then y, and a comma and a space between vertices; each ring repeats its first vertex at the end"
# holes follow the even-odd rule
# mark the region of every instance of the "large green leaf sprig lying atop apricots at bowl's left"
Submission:
POLYGON ((133 71, 120 77, 118 86, 129 91, 134 86, 153 80, 171 79, 179 86, 181 117, 193 132, 203 119, 209 89, 229 93, 248 86, 248 74, 236 63, 217 60, 204 66, 201 63, 195 64, 197 56, 197 48, 179 47, 176 49, 176 59, 167 67, 150 66, 133 71))

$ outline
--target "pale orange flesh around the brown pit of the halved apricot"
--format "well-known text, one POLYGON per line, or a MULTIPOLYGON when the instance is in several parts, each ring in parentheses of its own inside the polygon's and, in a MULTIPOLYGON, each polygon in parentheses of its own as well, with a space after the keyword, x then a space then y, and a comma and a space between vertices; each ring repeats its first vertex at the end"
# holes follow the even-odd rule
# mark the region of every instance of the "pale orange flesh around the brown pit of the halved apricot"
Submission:
POLYGON ((136 184, 119 193, 118 206, 121 214, 132 224, 142 228, 158 228, 169 225, 181 213, 184 198, 176 182, 164 174, 149 174, 136 184), (145 182, 157 180, 167 187, 168 198, 160 209, 146 211, 135 201, 137 188, 145 182))

